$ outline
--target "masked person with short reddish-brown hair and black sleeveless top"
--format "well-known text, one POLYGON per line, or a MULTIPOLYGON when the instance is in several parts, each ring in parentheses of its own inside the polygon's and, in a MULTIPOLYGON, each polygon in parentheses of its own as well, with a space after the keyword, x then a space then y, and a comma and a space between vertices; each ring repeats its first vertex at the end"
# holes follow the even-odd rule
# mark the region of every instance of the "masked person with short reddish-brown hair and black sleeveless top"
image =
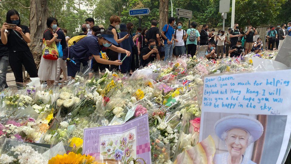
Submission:
MULTIPOLYGON (((127 34, 126 36, 124 36, 123 38, 119 37, 119 33, 117 33, 117 29, 119 29, 119 24, 121 22, 120 17, 119 16, 111 16, 110 19, 110 25, 108 27, 108 30, 112 31, 113 35, 114 35, 114 40, 115 42, 117 42, 117 47, 120 47, 119 43, 121 43, 122 41, 124 41, 125 39, 129 38, 129 34, 127 34)), ((111 61, 115 61, 118 59, 118 53, 108 49, 107 50, 107 56, 109 57, 109 60, 111 61)), ((112 71, 113 69, 118 70, 118 66, 116 65, 110 65, 109 70, 112 71)))

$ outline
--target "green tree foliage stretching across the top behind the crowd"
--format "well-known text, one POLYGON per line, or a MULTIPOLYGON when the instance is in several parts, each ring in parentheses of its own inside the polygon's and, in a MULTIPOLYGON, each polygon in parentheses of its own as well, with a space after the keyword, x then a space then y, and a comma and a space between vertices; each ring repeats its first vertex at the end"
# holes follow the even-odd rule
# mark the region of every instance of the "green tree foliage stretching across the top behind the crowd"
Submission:
MULTIPOLYGON (((93 17, 95 25, 109 26, 109 18, 118 15, 123 23, 132 22, 138 27, 138 17, 129 16, 129 10, 133 8, 148 7, 151 13, 142 16, 142 27, 150 27, 152 19, 159 20, 159 6, 164 0, 49 0, 49 16, 58 19, 60 27, 68 30, 69 36, 81 32, 81 24, 88 17, 93 17), (160 2, 161 1, 161 2, 160 2), (95 6, 91 13, 81 10, 80 4, 95 6), (66 6, 66 7, 64 7, 66 6)), ((209 24, 210 28, 222 27, 222 17, 219 13, 219 0, 175 0, 173 2, 173 16, 176 17, 176 8, 193 11, 192 21, 198 24, 209 24)), ((230 3, 231 7, 231 3, 230 3)), ((22 24, 29 25, 30 0, 2 0, 0 1, 0 23, 5 22, 6 12, 16 9, 21 15, 22 24)), ((271 25, 290 22, 291 0, 236 0, 235 22, 240 26, 271 25)), ((171 2, 169 2, 168 16, 171 16, 171 2)), ((230 26, 231 8, 225 20, 225 27, 230 26)), ((188 19, 180 18, 183 28, 188 27, 188 19)), ((134 30, 135 31, 135 30, 134 30)))

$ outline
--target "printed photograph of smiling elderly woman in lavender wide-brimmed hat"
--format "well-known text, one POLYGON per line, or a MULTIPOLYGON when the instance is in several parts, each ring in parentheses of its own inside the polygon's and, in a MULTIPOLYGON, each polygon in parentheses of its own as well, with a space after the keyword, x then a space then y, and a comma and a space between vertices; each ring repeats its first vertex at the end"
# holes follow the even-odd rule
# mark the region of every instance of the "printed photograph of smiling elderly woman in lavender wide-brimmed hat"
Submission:
POLYGON ((277 162, 287 116, 205 112, 202 119, 200 140, 213 137, 214 164, 277 162))

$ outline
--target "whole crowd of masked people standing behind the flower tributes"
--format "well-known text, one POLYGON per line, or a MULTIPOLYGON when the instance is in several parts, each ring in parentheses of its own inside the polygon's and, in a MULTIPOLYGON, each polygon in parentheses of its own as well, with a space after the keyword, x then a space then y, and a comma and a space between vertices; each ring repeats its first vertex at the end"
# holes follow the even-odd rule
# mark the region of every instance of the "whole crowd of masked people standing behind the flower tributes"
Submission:
MULTIPOLYGON (((44 46, 39 68, 35 65, 32 53, 27 43, 31 42, 30 30, 21 24, 19 13, 9 10, 6 22, 1 28, 0 39, 0 86, 8 87, 6 73, 8 62, 14 73, 16 82, 23 82, 22 65, 30 77, 39 77, 47 85, 58 85, 74 78, 83 66, 92 68, 94 72, 104 72, 105 69, 132 74, 134 70, 145 67, 154 60, 169 60, 184 54, 192 57, 202 52, 202 57, 221 59, 224 56, 241 56, 250 52, 261 52, 264 48, 262 39, 254 41, 257 30, 249 25, 244 32, 239 24, 234 24, 228 31, 209 30, 207 24, 192 22, 191 28, 183 29, 183 23, 174 17, 168 19, 168 24, 159 30, 157 20, 151 21, 150 28, 137 27, 134 24, 121 23, 119 16, 111 16, 110 24, 95 25, 93 18, 87 18, 81 25, 82 33, 70 38, 65 28, 59 27, 56 18, 48 18, 47 29, 43 33, 44 46), (11 29, 10 24, 16 24, 11 29), (73 45, 69 44, 72 40, 73 45), (60 54, 67 58, 51 59, 46 56, 51 53, 49 48, 61 45, 60 54), (60 79, 63 73, 64 78, 60 79)), ((291 23, 277 24, 268 27, 266 31, 266 49, 280 48, 287 35, 291 36, 291 23)), ((263 38, 264 39, 264 38, 263 38)), ((52 50, 53 51, 53 50, 52 50)), ((53 55, 52 55, 53 56, 53 55)))

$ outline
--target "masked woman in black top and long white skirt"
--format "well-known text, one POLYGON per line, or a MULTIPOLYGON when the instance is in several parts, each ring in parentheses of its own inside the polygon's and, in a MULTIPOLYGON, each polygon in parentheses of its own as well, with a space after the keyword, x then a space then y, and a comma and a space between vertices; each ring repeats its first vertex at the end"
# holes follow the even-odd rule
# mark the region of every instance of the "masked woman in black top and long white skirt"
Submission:
MULTIPOLYGON (((55 18, 49 17, 47 19, 47 30, 44 31, 44 40, 48 46, 54 42, 58 43, 58 34, 54 32, 57 29, 57 22, 55 18)), ((57 60, 44 59, 41 57, 41 63, 38 68, 38 77, 42 81, 47 81, 47 85, 54 84, 57 77, 58 62, 57 60)))

